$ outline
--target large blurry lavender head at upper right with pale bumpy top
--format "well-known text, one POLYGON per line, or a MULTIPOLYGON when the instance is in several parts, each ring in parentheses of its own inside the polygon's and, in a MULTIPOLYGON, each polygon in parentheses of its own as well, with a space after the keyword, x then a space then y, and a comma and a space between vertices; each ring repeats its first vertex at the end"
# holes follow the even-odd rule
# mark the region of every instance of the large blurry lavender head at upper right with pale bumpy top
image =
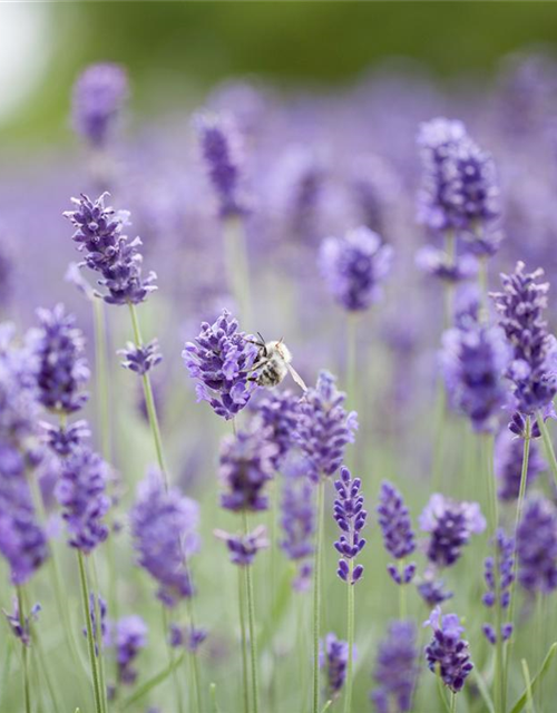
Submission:
POLYGON ((422 187, 418 219, 432 231, 473 231, 500 215, 499 187, 491 156, 458 120, 436 118, 420 126, 422 187))

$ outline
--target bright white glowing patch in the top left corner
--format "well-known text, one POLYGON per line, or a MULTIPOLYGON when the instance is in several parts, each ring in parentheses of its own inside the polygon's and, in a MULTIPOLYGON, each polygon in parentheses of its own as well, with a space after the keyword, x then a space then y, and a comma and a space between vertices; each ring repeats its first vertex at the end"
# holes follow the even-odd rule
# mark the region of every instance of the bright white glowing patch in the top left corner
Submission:
POLYGON ((0 2, 0 124, 46 75, 51 50, 47 2, 0 2))

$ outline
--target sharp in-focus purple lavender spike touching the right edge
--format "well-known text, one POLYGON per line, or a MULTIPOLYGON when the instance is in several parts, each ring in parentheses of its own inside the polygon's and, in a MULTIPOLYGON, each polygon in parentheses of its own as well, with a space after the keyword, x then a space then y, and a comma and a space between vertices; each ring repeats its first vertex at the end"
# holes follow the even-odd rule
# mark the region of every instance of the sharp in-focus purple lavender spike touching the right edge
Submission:
POLYGON ((557 341, 543 318, 549 290, 549 283, 538 282, 543 274, 543 270, 526 273, 518 262, 512 274, 501 275, 502 292, 491 294, 512 349, 506 375, 524 414, 544 409, 557 393, 557 341))

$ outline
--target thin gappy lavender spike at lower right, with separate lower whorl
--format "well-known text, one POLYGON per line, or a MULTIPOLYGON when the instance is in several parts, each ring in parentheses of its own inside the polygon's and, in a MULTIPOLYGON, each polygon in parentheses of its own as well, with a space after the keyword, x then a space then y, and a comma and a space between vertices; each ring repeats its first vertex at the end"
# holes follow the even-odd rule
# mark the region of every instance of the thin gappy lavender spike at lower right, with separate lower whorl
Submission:
MULTIPOLYGON (((498 568, 496 569, 496 559, 494 557, 486 557, 483 564, 483 578, 487 585, 487 592, 482 597, 482 602, 487 607, 492 607, 497 604, 497 589, 499 589, 499 603, 502 609, 506 609, 510 604, 510 585, 515 580, 514 573, 514 554, 515 554, 515 540, 507 537, 502 529, 498 529, 495 535, 495 547, 498 550, 498 568)), ((482 631, 490 644, 496 644, 497 633, 492 626, 485 624, 482 631)), ((512 633, 512 624, 501 625, 501 638, 507 638, 512 633)))

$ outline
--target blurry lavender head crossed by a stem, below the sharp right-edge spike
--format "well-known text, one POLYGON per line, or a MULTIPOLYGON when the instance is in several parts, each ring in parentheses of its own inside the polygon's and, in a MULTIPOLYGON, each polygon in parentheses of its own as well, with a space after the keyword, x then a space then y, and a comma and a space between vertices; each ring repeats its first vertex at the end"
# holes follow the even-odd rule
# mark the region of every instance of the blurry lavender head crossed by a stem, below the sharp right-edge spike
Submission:
MULTIPOLYGON (((522 475, 522 441, 515 438, 509 430, 505 429, 497 437, 494 456, 495 475, 499 482, 497 495, 505 502, 518 499, 522 475)), ((531 441, 526 476, 527 490, 545 468, 546 463, 539 453, 538 447, 531 441)))

